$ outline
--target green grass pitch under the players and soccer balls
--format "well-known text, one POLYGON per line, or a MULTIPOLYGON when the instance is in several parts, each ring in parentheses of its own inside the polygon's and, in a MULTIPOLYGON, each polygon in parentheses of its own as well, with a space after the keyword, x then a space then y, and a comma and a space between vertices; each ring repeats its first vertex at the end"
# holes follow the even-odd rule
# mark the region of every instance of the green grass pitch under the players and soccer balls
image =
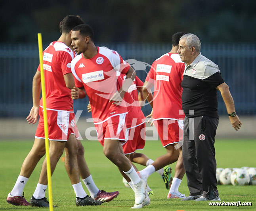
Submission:
MULTIPOLYGON (((102 152, 102 146, 97 141, 82 141, 85 148, 85 158, 94 178, 95 183, 100 189, 106 191, 120 192, 118 198, 109 203, 103 203, 97 207, 76 207, 75 205, 75 193, 65 172, 64 163, 59 161, 55 172, 52 176, 52 188, 53 188, 53 203, 58 205, 58 208, 54 210, 129 210, 134 205, 134 196, 132 189, 125 188, 122 184, 122 177, 118 172, 117 167, 111 163, 102 152)), ((10 205, 6 202, 8 192, 11 191, 19 171, 21 164, 26 157, 27 153, 31 149, 33 141, 0 141, 0 210, 48 210, 47 208, 34 208, 34 207, 17 207, 10 205)), ((256 140, 216 140, 216 159, 217 167, 256 167, 255 162, 255 149, 256 140)), ((155 159, 161 154, 164 154, 165 150, 162 148, 160 141, 147 141, 143 152, 151 159, 155 159)), ((42 159, 43 160, 43 159, 42 159)), ((24 192, 25 198, 30 199, 36 188, 38 182, 40 168, 42 160, 36 166, 34 173, 27 182, 24 192)), ((143 167, 137 165, 138 169, 143 167)), ((170 165, 173 169, 175 163, 170 165)), ((149 210, 256 210, 256 186, 223 186, 219 185, 218 190, 220 192, 220 198, 225 202, 252 202, 252 206, 245 207, 223 207, 216 206, 210 207, 207 201, 180 201, 179 199, 167 200, 166 196, 168 190, 165 189, 164 183, 158 173, 154 173, 148 179, 149 186, 154 191, 154 196, 151 197, 151 204, 143 209, 149 210)), ((85 188, 86 192, 88 190, 85 188)), ((180 192, 189 194, 187 188, 187 181, 184 177, 180 192)), ((48 195, 48 193, 46 193, 48 195)))

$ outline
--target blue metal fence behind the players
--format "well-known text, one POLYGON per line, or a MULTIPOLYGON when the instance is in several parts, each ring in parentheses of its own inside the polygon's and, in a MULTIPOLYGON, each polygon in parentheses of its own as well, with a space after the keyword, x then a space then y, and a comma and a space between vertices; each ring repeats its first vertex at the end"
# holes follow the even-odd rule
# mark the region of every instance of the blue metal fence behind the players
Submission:
MULTIPOLYGON (((124 59, 152 64, 170 51, 171 44, 99 44, 115 49, 124 59)), ((46 47, 46 46, 45 46, 46 47)), ((216 63, 229 85, 238 114, 256 115, 256 44, 203 44, 201 52, 216 63)), ((0 44, 0 117, 27 116, 32 106, 32 78, 38 67, 36 44, 0 44)), ((148 71, 149 69, 147 69, 148 71)), ((141 80, 146 72, 138 71, 141 80)), ((75 101, 75 110, 86 110, 87 99, 75 101)), ((143 108, 149 114, 150 106, 143 108)), ((226 114, 219 97, 220 114, 226 114)), ((88 115, 86 111, 83 116, 88 115)))

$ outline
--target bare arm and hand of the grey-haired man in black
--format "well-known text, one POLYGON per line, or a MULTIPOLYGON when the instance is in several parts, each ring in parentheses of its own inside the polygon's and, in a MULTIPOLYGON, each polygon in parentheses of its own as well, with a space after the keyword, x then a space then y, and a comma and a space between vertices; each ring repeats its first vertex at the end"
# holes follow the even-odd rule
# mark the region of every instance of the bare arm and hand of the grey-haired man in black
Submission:
MULTIPOLYGON (((235 112, 235 104, 227 84, 224 82, 223 84, 217 86, 217 89, 220 91, 222 95, 222 98, 227 108, 227 113, 231 114, 232 112, 235 112)), ((236 131, 240 129, 242 122, 240 121, 237 115, 234 117, 229 116, 229 120, 232 124, 232 127, 234 127, 236 131)))

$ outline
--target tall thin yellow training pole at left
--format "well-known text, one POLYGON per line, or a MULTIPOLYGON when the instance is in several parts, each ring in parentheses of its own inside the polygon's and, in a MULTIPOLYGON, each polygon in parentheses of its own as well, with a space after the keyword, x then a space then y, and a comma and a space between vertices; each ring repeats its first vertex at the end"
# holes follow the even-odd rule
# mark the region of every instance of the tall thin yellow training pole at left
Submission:
POLYGON ((49 194, 49 208, 53 211, 52 201, 52 179, 51 179, 51 164, 49 155, 49 139, 48 139, 48 123, 47 123, 47 112, 46 112, 46 93, 45 93, 45 82, 44 82, 44 65, 43 65, 43 45, 42 45, 42 34, 38 33, 38 49, 40 59, 40 72, 41 72, 41 86, 42 86, 42 98, 43 98, 43 109, 44 109, 44 137, 45 137, 45 152, 46 152, 46 166, 47 166, 47 179, 48 179, 48 194, 49 194))

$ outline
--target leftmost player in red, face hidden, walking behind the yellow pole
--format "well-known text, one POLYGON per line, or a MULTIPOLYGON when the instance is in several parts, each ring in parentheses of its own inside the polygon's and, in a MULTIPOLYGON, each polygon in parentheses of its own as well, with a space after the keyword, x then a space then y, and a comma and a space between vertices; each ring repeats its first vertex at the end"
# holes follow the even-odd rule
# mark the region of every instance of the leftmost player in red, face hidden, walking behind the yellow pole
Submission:
MULTIPOLYGON (((79 178, 77 165, 77 128, 74 120, 73 99, 71 88, 75 82, 71 73, 71 61, 74 58, 71 44, 71 30, 84 23, 75 15, 68 15, 60 23, 61 36, 57 42, 52 42, 43 52, 44 72, 46 82, 46 105, 48 113, 48 129, 50 140, 50 160, 52 173, 65 149, 65 167, 76 193, 76 205, 100 205, 101 201, 95 201, 84 192, 79 178), (76 137, 75 137, 76 134, 76 137)), ((35 124, 40 116, 36 129, 34 145, 21 167, 19 177, 8 194, 7 202, 13 205, 29 205, 22 196, 26 182, 36 167, 38 161, 45 154, 44 121, 42 112, 42 99, 40 101, 40 67, 33 78, 33 107, 27 121, 35 124)), ((86 165, 86 163, 85 163, 86 165)), ((42 165, 39 182, 31 198, 32 206, 49 207, 45 198, 47 188, 46 160, 42 165)))

